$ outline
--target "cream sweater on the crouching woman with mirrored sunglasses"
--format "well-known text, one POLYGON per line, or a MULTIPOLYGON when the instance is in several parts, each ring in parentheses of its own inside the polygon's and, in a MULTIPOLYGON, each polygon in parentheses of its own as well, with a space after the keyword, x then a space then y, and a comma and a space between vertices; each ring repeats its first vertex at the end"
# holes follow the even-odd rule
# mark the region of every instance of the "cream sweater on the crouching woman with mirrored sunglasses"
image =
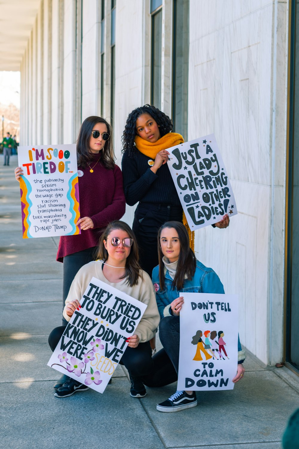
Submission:
MULTIPOLYGON (((76 274, 69 289, 65 304, 68 304, 74 299, 80 301, 93 276, 117 290, 123 291, 127 295, 138 299, 142 303, 147 304, 147 308, 136 328, 135 334, 138 335, 140 343, 145 343, 153 338, 157 331, 160 315, 158 312, 154 286, 149 275, 143 271, 143 281, 141 277, 139 277, 138 284, 130 287, 126 283, 126 279, 122 279, 120 282, 109 282, 103 274, 102 261, 90 262, 89 264, 84 265, 76 274)), ((64 306, 63 316, 69 321, 71 317, 65 313, 65 309, 66 306, 64 306)))

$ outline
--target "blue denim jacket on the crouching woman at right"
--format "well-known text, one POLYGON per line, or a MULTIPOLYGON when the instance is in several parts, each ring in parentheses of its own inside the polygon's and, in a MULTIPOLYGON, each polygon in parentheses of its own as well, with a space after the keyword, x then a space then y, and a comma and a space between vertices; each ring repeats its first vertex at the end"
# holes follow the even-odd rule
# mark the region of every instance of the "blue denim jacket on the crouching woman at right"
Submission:
MULTIPOLYGON (((152 280, 156 291, 158 311, 161 319, 172 316, 170 304, 179 297, 179 291, 172 287, 172 279, 168 273, 165 274, 163 290, 160 289, 159 266, 153 269, 152 280)), ((199 260, 196 260, 196 269, 191 281, 184 280, 184 286, 181 290, 186 293, 221 293, 224 294, 222 282, 218 275, 211 268, 205 267, 199 260)), ((238 335, 238 363, 245 360, 245 351, 242 350, 238 335)))

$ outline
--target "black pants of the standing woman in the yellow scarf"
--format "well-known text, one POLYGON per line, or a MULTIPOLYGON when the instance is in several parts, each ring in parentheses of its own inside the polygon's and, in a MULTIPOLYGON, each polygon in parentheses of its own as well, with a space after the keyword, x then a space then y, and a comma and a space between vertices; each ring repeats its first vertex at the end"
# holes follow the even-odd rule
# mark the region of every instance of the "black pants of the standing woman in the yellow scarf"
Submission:
POLYGON ((139 247, 141 268, 152 277, 152 271, 158 265, 158 229, 166 221, 183 220, 181 206, 140 202, 135 211, 133 231, 139 247))

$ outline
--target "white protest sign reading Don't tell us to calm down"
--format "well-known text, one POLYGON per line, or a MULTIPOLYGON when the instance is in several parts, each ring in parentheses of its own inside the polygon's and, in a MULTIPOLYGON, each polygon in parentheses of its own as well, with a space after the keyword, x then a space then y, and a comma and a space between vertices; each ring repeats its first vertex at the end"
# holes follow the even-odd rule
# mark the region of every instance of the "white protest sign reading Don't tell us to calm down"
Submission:
POLYGON ((178 390, 232 390, 238 364, 238 297, 180 293, 178 390))

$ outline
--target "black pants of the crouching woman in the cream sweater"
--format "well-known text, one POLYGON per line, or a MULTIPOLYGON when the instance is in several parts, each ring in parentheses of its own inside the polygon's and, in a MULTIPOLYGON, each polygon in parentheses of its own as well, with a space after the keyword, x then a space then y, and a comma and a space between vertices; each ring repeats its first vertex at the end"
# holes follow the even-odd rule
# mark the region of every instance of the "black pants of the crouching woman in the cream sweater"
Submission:
MULTIPOLYGON (((61 335, 64 333, 65 326, 59 326, 52 330, 49 335, 49 346, 52 351, 57 346, 61 335)), ((120 365, 124 365, 129 373, 134 377, 144 377, 154 370, 154 362, 152 360, 152 350, 149 342, 139 343, 137 348, 127 347, 120 359, 120 365)))

